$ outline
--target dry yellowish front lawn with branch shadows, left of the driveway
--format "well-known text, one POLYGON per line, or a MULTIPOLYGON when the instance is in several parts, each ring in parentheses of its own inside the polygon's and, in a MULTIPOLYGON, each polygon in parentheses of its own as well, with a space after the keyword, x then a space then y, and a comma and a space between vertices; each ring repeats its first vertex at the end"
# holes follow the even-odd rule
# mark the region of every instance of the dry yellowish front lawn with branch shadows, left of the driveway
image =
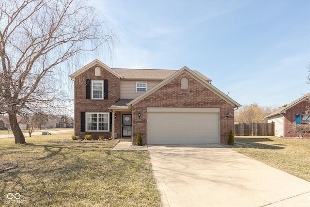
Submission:
POLYGON ((147 151, 112 150, 113 142, 46 142, 71 135, 33 136, 28 144, 0 139, 0 161, 19 164, 0 173, 0 206, 8 193, 20 193, 23 206, 161 206, 147 151))

